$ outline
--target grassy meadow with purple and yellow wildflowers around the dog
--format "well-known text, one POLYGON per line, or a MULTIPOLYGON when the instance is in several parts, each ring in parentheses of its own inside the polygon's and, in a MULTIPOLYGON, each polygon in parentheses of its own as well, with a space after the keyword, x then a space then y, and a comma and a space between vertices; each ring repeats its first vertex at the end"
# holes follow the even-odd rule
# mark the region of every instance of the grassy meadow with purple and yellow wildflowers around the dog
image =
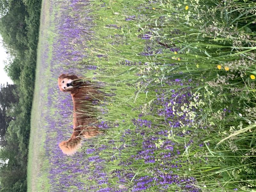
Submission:
POLYGON ((28 191, 256 191, 255 7, 44 0, 28 191), (106 93, 104 134, 73 156, 58 147, 73 131, 62 73, 106 93))

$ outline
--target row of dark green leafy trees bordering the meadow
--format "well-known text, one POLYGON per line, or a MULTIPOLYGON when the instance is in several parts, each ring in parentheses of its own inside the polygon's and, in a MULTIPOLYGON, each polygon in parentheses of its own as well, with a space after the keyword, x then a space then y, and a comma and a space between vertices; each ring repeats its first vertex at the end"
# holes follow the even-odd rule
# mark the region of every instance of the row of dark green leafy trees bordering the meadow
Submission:
POLYGON ((27 190, 30 113, 41 0, 0 0, 0 34, 14 85, 0 86, 0 191, 27 190))

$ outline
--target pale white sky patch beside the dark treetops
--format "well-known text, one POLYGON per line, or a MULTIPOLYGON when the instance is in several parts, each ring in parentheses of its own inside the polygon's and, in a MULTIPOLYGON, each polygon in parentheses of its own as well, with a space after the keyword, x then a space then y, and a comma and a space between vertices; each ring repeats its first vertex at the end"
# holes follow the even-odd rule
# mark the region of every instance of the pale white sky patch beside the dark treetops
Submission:
POLYGON ((7 76, 4 71, 4 60, 7 60, 6 50, 3 47, 2 37, 0 36, 0 84, 13 84, 12 80, 7 76))

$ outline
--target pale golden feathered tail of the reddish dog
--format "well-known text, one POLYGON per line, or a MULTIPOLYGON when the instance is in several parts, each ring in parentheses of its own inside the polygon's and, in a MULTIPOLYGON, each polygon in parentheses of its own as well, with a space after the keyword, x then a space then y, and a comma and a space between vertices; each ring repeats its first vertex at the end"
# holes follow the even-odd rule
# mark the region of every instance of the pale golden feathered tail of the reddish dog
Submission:
POLYGON ((76 153, 76 150, 81 146, 81 137, 74 137, 74 132, 70 139, 67 141, 62 141, 59 144, 60 149, 62 152, 68 156, 74 155, 76 153))

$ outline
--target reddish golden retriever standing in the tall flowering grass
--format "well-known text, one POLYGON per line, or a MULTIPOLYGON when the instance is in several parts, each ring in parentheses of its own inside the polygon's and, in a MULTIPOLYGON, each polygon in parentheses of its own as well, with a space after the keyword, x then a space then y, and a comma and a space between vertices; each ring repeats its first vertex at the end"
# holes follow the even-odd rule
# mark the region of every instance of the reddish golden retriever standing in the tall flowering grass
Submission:
POLYGON ((73 133, 67 141, 59 144, 66 155, 73 155, 81 146, 82 137, 91 138, 100 133, 97 127, 92 126, 95 118, 92 112, 92 100, 98 98, 100 92, 90 82, 76 75, 62 74, 58 78, 60 91, 69 92, 73 100, 73 133), (89 107, 88 107, 89 106, 89 107), (85 114, 84 111, 89 112, 85 114))

